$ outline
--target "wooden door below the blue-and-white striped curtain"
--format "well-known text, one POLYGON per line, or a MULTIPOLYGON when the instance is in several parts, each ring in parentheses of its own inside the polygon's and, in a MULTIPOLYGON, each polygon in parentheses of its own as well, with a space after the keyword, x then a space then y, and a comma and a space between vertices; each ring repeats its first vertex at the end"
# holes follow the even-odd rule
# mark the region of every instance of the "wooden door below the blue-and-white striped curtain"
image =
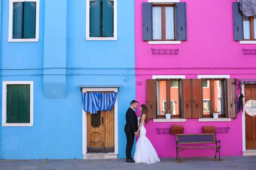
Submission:
POLYGON ((114 146, 114 107, 108 112, 87 112, 87 152, 114 152, 114 146))

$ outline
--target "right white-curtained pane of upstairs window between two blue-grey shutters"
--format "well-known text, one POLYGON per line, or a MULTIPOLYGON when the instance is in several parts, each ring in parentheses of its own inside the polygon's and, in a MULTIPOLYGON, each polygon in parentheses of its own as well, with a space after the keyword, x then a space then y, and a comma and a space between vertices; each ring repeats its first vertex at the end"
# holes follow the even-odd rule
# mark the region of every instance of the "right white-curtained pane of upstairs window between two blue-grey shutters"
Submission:
POLYGON ((166 40, 174 40, 174 8, 166 6, 166 40))

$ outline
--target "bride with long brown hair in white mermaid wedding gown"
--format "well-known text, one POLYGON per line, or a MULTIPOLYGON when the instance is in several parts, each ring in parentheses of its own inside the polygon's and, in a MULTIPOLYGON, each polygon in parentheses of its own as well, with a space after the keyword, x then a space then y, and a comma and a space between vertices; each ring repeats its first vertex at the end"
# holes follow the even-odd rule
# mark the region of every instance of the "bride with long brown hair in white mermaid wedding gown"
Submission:
POLYGON ((146 105, 140 105, 141 115, 138 117, 138 130, 140 131, 140 137, 136 142, 135 153, 134 153, 134 161, 136 163, 145 163, 152 164, 155 162, 159 162, 160 159, 157 155, 156 150, 154 149, 151 142, 146 137, 146 129, 144 127, 145 124, 148 124, 148 108, 146 105))

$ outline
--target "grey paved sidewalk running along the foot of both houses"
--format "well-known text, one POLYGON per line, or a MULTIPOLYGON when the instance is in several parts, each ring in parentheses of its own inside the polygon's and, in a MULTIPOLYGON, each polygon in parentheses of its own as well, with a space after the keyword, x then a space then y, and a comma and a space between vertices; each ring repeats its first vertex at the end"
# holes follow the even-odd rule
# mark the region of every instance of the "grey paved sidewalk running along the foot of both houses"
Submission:
POLYGON ((256 170, 256 156, 161 158, 159 163, 127 163, 125 159, 0 160, 0 170, 256 170))

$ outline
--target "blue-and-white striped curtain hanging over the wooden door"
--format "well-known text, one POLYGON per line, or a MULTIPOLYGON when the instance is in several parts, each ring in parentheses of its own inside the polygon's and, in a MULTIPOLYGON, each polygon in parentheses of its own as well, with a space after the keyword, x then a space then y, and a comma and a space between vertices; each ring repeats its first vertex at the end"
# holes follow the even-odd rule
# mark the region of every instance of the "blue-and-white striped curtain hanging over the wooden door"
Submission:
POLYGON ((97 113, 97 111, 110 111, 115 105, 117 94, 118 92, 82 93, 84 111, 90 113, 97 113))

